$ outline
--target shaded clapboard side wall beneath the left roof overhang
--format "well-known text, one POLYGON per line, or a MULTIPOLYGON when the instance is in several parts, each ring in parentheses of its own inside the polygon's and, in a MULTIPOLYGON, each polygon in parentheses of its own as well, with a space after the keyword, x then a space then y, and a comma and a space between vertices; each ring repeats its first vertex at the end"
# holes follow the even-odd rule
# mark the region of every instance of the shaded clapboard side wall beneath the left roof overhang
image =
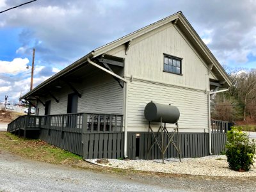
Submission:
MULTIPOLYGON (((82 95, 78 98, 77 113, 123 114, 123 89, 109 74, 99 72, 97 76, 88 76, 86 81, 74 84, 74 87, 82 95)), ((63 86, 59 92, 57 90, 52 93, 59 102, 51 96, 42 99, 44 102, 51 100, 51 115, 67 113, 68 94, 72 93, 72 90, 63 86)), ((39 102, 38 108, 39 115, 44 115, 44 106, 39 102)))

